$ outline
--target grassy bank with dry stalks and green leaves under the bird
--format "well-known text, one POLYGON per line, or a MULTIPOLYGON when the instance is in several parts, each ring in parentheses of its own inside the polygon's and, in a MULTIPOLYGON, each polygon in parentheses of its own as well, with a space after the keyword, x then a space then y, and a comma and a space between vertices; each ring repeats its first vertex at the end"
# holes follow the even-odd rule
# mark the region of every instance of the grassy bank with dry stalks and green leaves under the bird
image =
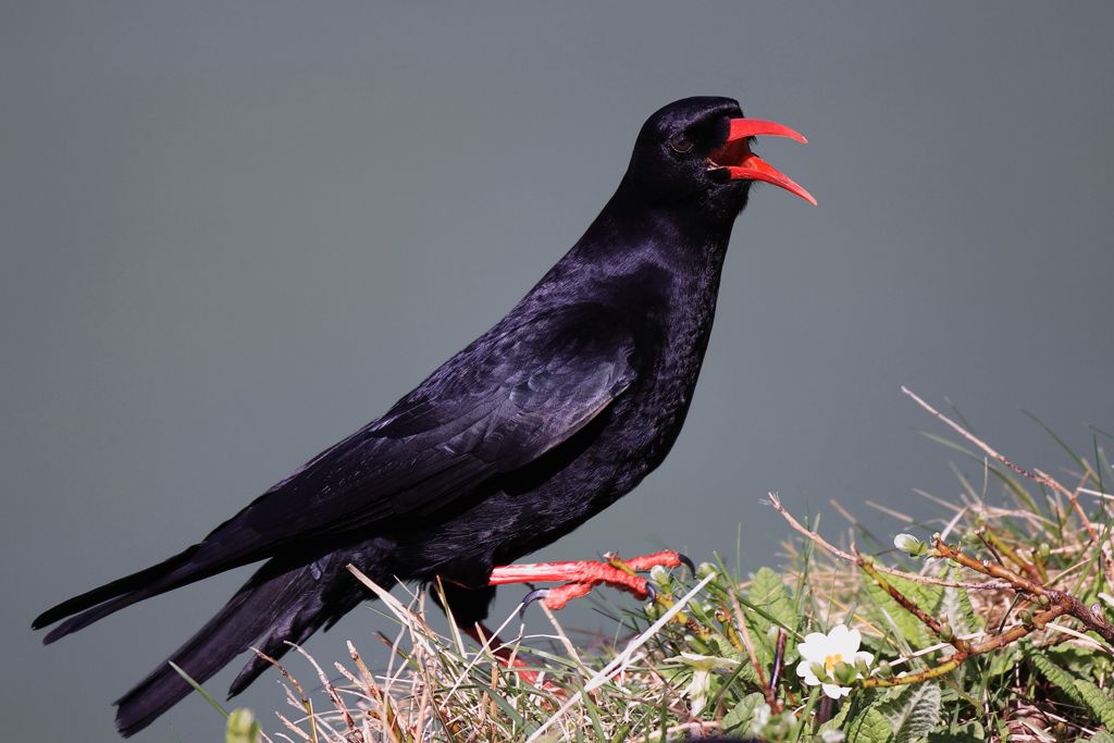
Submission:
MULTIPOLYGON (((508 672, 490 648, 436 632, 429 596, 408 592, 400 600, 373 587, 398 625, 384 637, 388 667, 368 668, 351 643, 328 672, 304 656, 312 671, 299 673, 312 684, 283 669, 291 707, 262 715, 260 737, 1114 743, 1106 434, 1096 430, 1086 453, 1053 434, 1065 486, 910 397, 949 429, 928 436, 967 465, 956 470, 958 497, 926 496, 939 511, 935 532, 890 511, 893 532, 876 536, 840 509, 849 528, 821 535, 771 495, 786 524, 772 568, 734 575, 710 555, 696 576, 655 569, 658 600, 616 612, 614 635, 587 646, 544 607, 551 632, 541 636, 510 637, 508 627, 521 629, 509 617, 500 636, 540 673, 537 684, 508 672), (898 531, 920 541, 909 542, 911 555, 892 547, 898 531), (830 681, 843 674, 851 691, 834 702, 805 685, 797 665, 805 635, 838 624, 858 629, 874 661, 866 674, 850 664, 830 673, 813 666, 830 681)), ((229 725, 228 741, 238 743, 257 730, 236 712, 229 725)))

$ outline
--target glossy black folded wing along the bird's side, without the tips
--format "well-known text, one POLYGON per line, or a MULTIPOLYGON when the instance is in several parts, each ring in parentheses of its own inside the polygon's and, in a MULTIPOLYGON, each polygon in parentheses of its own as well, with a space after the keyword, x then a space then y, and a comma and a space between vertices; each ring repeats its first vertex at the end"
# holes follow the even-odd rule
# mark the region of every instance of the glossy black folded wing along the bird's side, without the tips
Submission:
POLYGON ((632 384, 635 358, 631 329, 596 304, 497 325, 217 527, 194 559, 212 568, 416 511, 436 517, 568 440, 632 384))

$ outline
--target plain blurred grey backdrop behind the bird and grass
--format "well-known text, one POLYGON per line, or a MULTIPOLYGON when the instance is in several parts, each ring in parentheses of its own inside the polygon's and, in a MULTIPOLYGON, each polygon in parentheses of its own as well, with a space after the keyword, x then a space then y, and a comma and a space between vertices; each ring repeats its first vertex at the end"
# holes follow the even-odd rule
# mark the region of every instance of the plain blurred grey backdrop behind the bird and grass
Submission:
MULTIPOLYGON (((831 530, 830 498, 936 515, 911 489, 954 493, 951 454, 902 383, 1063 465, 1019 411, 1084 449, 1114 427, 1112 8, 4 2, 0 735, 113 740, 108 703, 244 571, 49 648, 31 617, 382 412, 563 254, 683 96, 805 133, 761 149, 820 206, 754 194, 672 456, 541 557, 733 557, 742 522, 745 567, 776 563, 770 489, 831 530)), ((361 609, 310 649, 388 628, 361 609)), ((244 701, 274 729, 273 674, 244 701)), ((218 729, 190 698, 137 740, 218 729)))

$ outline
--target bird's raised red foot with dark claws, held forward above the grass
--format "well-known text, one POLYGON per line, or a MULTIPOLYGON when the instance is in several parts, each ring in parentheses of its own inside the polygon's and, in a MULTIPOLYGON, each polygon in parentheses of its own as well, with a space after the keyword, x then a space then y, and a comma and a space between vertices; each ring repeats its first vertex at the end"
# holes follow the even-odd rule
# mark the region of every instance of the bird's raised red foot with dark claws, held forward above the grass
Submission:
POLYGON ((540 600, 549 609, 560 609, 571 599, 587 596, 593 588, 600 584, 625 590, 639 599, 654 600, 657 597, 654 584, 636 574, 653 567, 672 568, 681 565, 695 573, 692 560, 673 550, 643 555, 628 560, 620 559, 618 555, 605 555, 604 560, 507 565, 491 571, 489 585, 500 586, 510 583, 544 580, 565 583, 564 586, 555 588, 531 590, 522 599, 520 610, 525 610, 536 600, 540 600))

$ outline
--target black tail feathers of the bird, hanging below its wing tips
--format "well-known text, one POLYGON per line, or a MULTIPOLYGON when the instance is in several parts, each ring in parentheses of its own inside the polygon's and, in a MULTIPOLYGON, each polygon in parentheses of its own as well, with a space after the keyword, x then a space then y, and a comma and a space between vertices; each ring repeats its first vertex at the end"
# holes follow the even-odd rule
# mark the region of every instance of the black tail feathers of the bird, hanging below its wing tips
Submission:
MULTIPOLYGON (((332 563, 332 560, 329 560, 332 563)), ((305 566, 283 571, 272 560, 236 592, 221 612, 168 659, 190 678, 204 682, 250 647, 281 657, 322 626, 331 626, 362 597, 355 580, 343 570, 305 566)), ((267 668, 253 657, 233 682, 228 695, 238 694, 267 668)), ((177 704, 193 688, 164 663, 116 705, 116 726, 133 735, 177 704)))

